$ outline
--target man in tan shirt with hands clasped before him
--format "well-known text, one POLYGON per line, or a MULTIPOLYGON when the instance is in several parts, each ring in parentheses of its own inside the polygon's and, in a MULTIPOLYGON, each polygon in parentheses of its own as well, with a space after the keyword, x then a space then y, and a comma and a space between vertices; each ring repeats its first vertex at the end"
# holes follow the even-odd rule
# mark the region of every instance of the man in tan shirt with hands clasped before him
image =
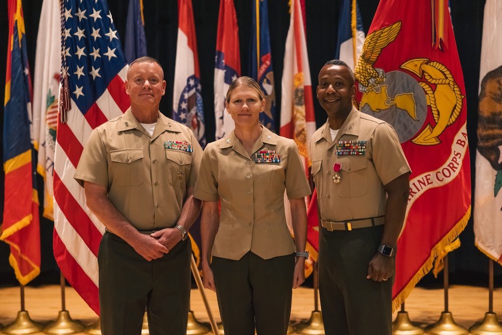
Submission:
POLYGON ((192 131, 159 111, 166 81, 159 62, 129 66, 131 107, 94 129, 74 178, 106 226, 98 253, 104 335, 186 334, 191 244, 198 215, 192 196, 202 149, 192 131))

